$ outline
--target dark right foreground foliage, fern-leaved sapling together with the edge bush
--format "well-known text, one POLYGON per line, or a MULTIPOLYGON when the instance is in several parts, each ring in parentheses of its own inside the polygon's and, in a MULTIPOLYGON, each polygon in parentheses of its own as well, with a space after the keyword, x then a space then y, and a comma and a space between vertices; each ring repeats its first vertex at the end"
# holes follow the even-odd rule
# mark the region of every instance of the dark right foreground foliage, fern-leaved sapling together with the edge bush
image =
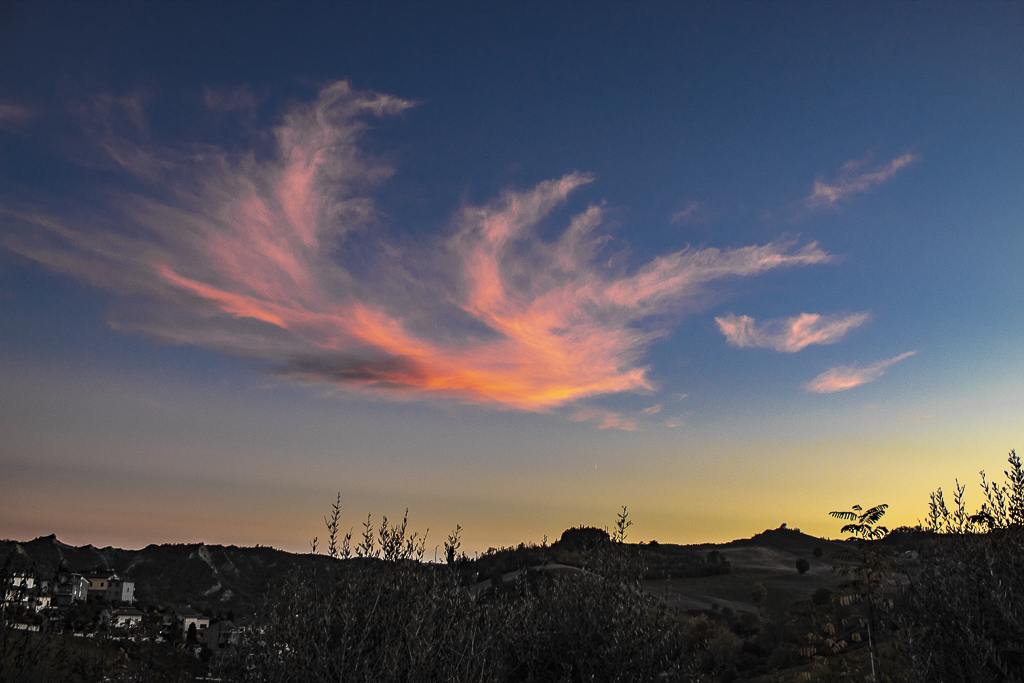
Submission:
POLYGON ((1024 468, 1013 451, 1009 464, 1002 484, 981 473, 973 514, 958 481, 951 510, 932 495, 926 524, 900 529, 923 539, 918 560, 885 543, 887 506, 830 513, 849 522, 851 550, 837 558, 840 590, 799 616, 814 664, 805 680, 1024 681, 1024 468))

